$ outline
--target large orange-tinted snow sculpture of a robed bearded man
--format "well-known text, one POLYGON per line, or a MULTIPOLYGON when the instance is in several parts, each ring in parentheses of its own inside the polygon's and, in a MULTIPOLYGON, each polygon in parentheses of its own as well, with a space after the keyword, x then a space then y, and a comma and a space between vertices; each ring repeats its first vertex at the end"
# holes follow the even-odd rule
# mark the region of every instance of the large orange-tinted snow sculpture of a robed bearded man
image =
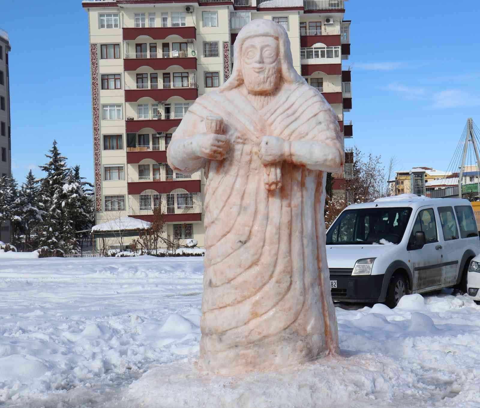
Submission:
POLYGON ((337 352, 324 172, 344 160, 336 115, 293 68, 281 25, 248 23, 234 55, 167 151, 175 171, 207 177, 199 366, 226 375, 337 352))

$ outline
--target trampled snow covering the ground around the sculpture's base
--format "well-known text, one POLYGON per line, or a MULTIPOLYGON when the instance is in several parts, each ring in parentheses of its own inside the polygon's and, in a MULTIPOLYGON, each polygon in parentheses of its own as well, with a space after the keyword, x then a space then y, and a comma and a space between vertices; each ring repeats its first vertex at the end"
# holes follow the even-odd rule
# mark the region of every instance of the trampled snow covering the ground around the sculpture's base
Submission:
POLYGON ((480 306, 465 296, 337 307, 339 358, 208 378, 202 258, 0 255, 0 406, 480 407, 480 306))

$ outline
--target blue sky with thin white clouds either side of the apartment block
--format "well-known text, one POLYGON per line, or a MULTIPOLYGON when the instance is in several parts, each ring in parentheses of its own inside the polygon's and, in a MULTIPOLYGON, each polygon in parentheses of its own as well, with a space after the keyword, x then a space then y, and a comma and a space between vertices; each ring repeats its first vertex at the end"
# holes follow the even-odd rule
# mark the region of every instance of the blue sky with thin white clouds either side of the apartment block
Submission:
MULTIPOLYGON (((88 25, 80 0, 2 0, 12 43, 12 172, 46 163, 56 139, 93 181, 88 25)), ((467 117, 480 125, 477 0, 349 0, 354 138, 398 170, 446 170, 467 117), (447 5, 450 3, 450 5, 447 5)))

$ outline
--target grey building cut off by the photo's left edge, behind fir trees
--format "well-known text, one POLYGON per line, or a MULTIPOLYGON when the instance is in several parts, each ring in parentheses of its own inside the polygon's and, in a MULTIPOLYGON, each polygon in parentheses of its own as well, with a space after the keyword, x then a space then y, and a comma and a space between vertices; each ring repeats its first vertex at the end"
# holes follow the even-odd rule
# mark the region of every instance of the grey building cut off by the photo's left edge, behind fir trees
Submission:
MULTIPOLYGON (((0 28, 0 176, 12 175, 10 82, 8 72, 8 53, 10 49, 8 34, 0 28)), ((10 230, 10 222, 0 225, 0 241, 10 242, 10 230)))

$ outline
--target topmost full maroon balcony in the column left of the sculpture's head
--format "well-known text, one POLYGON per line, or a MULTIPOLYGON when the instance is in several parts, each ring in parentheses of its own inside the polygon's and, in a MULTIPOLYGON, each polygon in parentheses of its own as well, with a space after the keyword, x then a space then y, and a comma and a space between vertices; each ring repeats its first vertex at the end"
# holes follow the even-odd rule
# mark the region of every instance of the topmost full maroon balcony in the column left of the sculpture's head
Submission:
POLYGON ((178 35, 189 40, 197 39, 197 29, 193 26, 182 25, 185 23, 162 23, 161 27, 142 26, 141 23, 124 23, 123 39, 136 40, 141 35, 146 35, 154 40, 164 40, 169 35, 178 35))

